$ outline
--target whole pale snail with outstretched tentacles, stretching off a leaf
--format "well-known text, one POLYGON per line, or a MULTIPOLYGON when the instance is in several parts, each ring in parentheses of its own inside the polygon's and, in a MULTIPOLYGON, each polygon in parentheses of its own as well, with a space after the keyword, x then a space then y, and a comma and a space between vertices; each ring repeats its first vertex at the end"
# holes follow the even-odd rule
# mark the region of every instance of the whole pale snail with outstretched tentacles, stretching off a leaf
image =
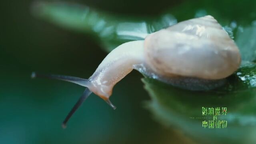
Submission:
POLYGON ((121 44, 112 50, 88 79, 32 73, 32 78, 64 80, 86 87, 62 123, 66 123, 93 92, 109 100, 114 85, 133 69, 150 78, 188 90, 211 90, 240 66, 238 47, 212 16, 179 22, 148 34, 145 40, 121 44))

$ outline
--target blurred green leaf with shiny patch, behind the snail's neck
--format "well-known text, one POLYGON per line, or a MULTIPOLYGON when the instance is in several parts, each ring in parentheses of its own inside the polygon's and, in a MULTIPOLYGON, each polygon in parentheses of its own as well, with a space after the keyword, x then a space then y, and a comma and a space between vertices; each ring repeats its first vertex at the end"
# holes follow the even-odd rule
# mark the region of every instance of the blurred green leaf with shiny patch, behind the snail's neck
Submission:
POLYGON ((118 16, 66 2, 36 2, 32 10, 34 16, 62 28, 91 34, 107 52, 177 23, 171 14, 158 18, 118 16))

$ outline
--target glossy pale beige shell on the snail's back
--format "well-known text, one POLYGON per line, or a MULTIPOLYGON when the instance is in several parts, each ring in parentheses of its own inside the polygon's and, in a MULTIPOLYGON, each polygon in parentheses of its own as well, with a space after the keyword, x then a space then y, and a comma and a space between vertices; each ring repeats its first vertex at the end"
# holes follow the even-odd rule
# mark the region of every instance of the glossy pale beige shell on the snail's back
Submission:
POLYGON ((234 40, 212 16, 179 22, 154 32, 144 43, 146 63, 157 74, 221 79, 241 62, 234 40))

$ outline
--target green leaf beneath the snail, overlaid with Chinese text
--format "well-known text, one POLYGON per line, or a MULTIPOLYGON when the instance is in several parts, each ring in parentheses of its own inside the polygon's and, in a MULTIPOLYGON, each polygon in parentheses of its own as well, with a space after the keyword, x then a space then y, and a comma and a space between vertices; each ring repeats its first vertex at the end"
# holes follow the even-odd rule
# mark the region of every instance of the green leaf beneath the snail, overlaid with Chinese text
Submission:
POLYGON ((201 142, 242 142, 245 138, 255 142, 256 88, 230 92, 192 92, 144 78, 145 88, 151 100, 147 108, 162 124, 176 128, 201 142), (227 115, 218 116, 227 120, 227 128, 203 128, 202 107, 226 107, 227 115), (193 118, 192 118, 193 117, 193 118))

